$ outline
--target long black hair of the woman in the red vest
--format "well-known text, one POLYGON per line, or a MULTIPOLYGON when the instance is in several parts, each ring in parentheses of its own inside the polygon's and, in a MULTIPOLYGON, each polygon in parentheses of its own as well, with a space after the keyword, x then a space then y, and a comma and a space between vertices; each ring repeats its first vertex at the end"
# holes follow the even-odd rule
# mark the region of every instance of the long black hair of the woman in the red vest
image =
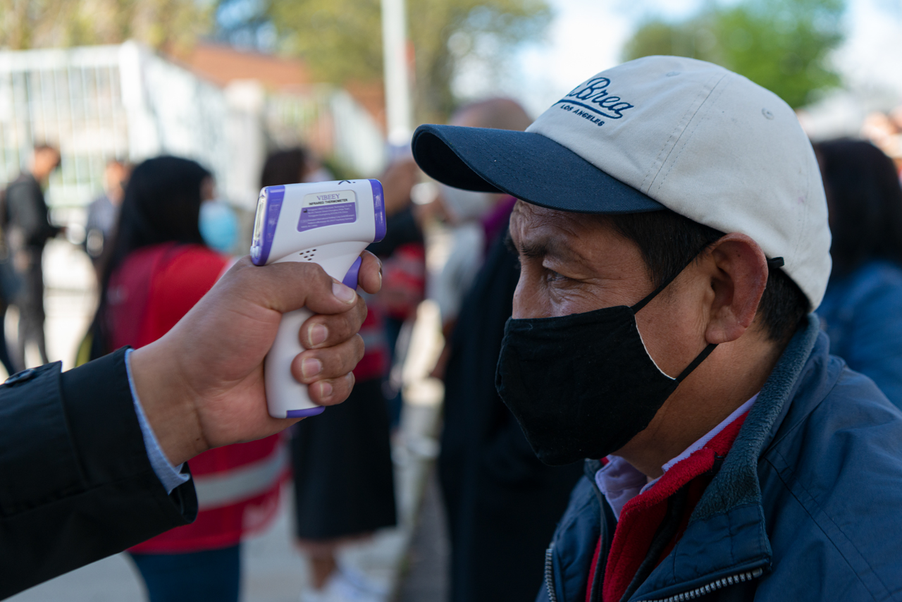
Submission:
POLYGON ((200 187, 210 176, 197 162, 170 156, 148 159, 132 171, 113 244, 102 262, 100 303, 91 325, 92 358, 109 351, 103 326, 106 289, 125 257, 144 246, 160 243, 205 244, 198 227, 200 187))

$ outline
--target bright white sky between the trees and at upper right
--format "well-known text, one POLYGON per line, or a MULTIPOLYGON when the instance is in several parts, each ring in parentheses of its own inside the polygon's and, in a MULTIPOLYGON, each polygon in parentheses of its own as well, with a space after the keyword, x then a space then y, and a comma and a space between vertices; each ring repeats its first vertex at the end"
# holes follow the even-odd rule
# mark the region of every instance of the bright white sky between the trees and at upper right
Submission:
MULTIPOLYGON (((643 17, 679 19, 703 2, 550 0, 555 18, 544 42, 517 51, 507 77, 468 69, 456 89, 465 97, 505 94, 538 116, 584 79, 619 63, 624 42, 643 17)), ((851 86, 890 88, 902 103, 902 0, 850 0, 845 27, 846 41, 833 56, 844 79, 851 86)))

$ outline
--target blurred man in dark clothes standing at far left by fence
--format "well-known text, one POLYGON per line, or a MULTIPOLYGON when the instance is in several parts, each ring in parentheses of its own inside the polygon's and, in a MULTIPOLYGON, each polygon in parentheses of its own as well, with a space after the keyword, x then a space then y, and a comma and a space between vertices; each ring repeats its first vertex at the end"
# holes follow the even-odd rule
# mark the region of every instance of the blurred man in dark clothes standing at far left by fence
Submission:
POLYGON ((51 173, 60 167, 60 151, 50 144, 37 144, 28 171, 6 188, 5 240, 13 271, 19 280, 18 291, 10 301, 19 308, 18 345, 14 365, 25 367, 25 347, 33 342, 48 363, 44 338, 44 273, 41 258, 44 245, 60 229, 51 225, 43 188, 51 173))

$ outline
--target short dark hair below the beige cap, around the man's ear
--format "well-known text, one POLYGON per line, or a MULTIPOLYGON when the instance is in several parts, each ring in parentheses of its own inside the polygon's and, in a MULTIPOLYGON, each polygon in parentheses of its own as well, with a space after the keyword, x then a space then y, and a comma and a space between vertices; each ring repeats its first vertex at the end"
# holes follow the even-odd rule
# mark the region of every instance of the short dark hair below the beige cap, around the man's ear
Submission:
MULTIPOLYGON (((705 248, 723 236, 723 232, 669 209, 600 218, 639 246, 656 287, 675 278, 705 248)), ((808 308, 808 299, 796 282, 783 270, 771 268, 758 305, 769 338, 786 342, 798 329, 808 308)))

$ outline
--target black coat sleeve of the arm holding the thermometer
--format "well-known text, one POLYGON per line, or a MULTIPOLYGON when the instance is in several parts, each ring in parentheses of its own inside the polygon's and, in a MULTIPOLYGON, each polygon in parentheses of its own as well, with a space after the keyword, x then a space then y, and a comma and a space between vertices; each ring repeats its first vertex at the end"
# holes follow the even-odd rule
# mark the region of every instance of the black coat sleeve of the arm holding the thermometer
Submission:
POLYGON ((0 598, 198 513, 191 481, 167 495, 153 472, 124 349, 25 375, 0 386, 0 598))

